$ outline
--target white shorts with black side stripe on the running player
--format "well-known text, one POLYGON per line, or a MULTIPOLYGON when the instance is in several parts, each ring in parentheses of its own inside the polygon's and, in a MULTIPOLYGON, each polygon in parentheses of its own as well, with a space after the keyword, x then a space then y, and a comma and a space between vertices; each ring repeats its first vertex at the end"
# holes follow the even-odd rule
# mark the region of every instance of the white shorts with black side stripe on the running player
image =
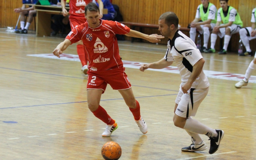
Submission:
POLYGON ((180 86, 180 91, 175 100, 175 103, 178 104, 175 114, 183 118, 195 116, 199 105, 207 96, 208 91, 209 87, 204 89, 190 89, 188 90, 188 94, 184 94, 180 86))

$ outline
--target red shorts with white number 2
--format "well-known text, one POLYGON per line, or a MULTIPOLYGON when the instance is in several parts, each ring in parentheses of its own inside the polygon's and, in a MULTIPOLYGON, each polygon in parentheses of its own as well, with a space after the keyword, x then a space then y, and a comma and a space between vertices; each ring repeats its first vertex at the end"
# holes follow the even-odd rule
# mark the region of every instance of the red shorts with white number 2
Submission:
POLYGON ((110 84, 113 90, 129 89, 132 85, 124 70, 125 68, 87 71, 87 89, 103 90, 102 94, 105 92, 107 84, 110 84))

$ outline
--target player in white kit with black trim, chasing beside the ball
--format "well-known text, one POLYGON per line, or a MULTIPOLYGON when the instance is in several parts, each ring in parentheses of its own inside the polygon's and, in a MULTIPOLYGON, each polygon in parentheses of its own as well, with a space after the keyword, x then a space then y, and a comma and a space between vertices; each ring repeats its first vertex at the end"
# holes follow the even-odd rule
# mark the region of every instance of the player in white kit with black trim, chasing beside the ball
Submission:
POLYGON ((178 17, 174 12, 166 12, 159 18, 159 31, 162 36, 170 38, 167 43, 167 52, 158 62, 142 64, 140 70, 148 68, 162 69, 170 66, 174 61, 180 70, 181 85, 175 100, 174 125, 183 128, 192 138, 192 144, 181 150, 187 152, 207 149, 206 143, 199 134, 210 138, 209 154, 215 153, 224 131, 212 129, 193 119, 197 109, 209 90, 209 81, 203 73, 204 59, 196 44, 178 30, 178 17))

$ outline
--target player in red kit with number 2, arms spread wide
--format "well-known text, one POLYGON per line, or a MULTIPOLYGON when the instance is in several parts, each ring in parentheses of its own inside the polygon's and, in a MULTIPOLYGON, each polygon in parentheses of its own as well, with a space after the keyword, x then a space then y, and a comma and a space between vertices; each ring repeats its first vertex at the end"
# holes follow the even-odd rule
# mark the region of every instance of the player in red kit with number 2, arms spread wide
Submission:
POLYGON ((119 55, 116 34, 143 38, 150 42, 159 42, 164 37, 130 30, 122 23, 101 20, 100 10, 94 3, 86 5, 85 17, 87 21, 75 27, 66 39, 54 49, 53 54, 59 57, 70 44, 82 40, 89 61, 89 70, 87 71, 88 107, 95 117, 107 124, 102 137, 110 137, 111 133, 118 127, 116 121, 100 106, 101 94, 105 92, 107 84, 120 92, 140 131, 144 134, 147 133, 146 123, 140 116, 139 102, 135 100, 130 81, 124 72, 125 68, 119 55))

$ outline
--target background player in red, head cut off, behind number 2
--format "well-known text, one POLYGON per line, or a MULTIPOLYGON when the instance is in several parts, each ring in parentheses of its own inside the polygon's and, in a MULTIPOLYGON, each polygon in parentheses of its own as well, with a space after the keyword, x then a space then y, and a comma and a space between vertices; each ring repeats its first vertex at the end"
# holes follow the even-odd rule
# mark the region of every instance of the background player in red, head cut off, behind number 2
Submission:
MULTIPOLYGON (((96 0, 97 3, 99 4, 99 8, 100 8, 100 18, 103 17, 103 2, 101 0, 96 0)), ((83 24, 86 22, 86 18, 84 16, 84 8, 87 4, 89 4, 90 2, 92 2, 92 0, 70 0, 69 1, 69 21, 70 21, 70 27, 71 30, 73 30, 73 28, 83 24)), ((68 15, 68 11, 65 9, 66 6, 66 0, 61 0, 61 5, 62 5, 62 14, 63 16, 67 16, 68 15)), ((85 55, 85 48, 84 45, 82 44, 82 41, 78 41, 77 46, 76 46, 76 50, 79 56, 79 59, 82 63, 82 71, 84 72, 84 74, 87 74, 87 57, 85 55)))

